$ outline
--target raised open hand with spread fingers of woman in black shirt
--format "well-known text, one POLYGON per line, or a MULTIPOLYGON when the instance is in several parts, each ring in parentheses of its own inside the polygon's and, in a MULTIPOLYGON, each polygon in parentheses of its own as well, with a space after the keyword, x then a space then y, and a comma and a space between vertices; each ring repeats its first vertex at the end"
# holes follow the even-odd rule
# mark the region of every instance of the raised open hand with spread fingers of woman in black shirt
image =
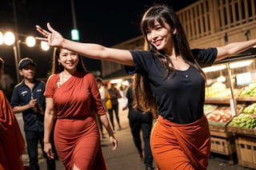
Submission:
POLYGON ((59 34, 56 30, 54 30, 50 23, 47 23, 47 28, 49 31, 42 29, 41 26, 35 26, 40 34, 44 36, 44 38, 36 38, 40 41, 47 42, 50 46, 58 46, 62 47, 62 42, 64 42, 64 38, 62 34, 59 34))

